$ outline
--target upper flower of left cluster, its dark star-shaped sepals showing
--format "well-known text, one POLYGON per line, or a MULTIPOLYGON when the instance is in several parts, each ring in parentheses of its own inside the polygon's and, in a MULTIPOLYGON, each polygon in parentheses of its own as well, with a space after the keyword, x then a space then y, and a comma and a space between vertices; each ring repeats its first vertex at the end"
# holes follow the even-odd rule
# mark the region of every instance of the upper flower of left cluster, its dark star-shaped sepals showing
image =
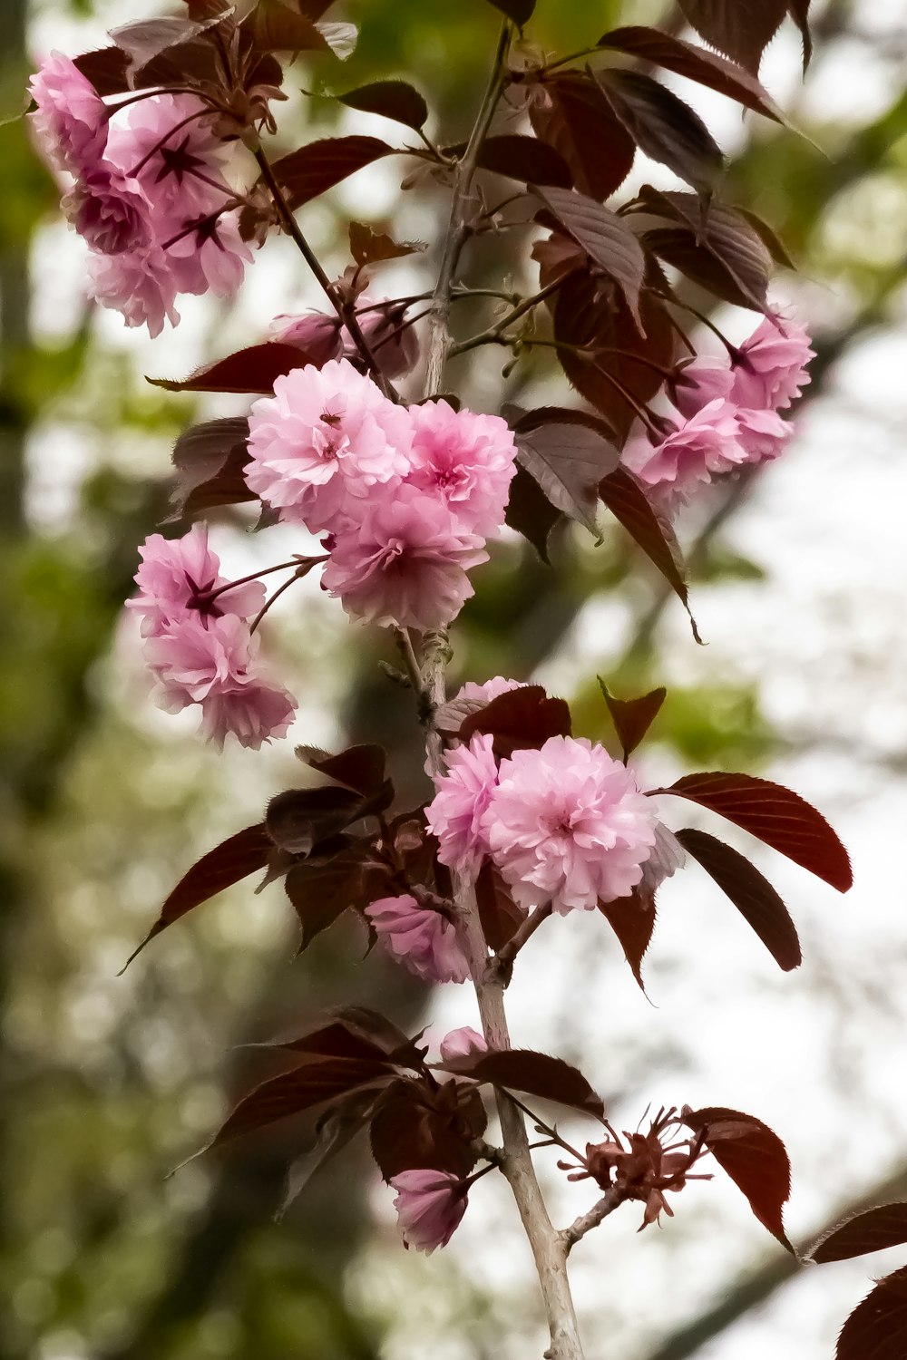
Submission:
POLYGON ((224 613, 250 617, 265 602, 260 581, 208 598, 212 590, 228 583, 228 577, 220 575, 220 559, 208 547, 208 529, 203 524, 193 525, 182 539, 152 533, 139 548, 139 556, 141 566, 135 577, 139 594, 126 600, 126 609, 140 616, 146 638, 159 636, 192 615, 203 623, 224 613))

